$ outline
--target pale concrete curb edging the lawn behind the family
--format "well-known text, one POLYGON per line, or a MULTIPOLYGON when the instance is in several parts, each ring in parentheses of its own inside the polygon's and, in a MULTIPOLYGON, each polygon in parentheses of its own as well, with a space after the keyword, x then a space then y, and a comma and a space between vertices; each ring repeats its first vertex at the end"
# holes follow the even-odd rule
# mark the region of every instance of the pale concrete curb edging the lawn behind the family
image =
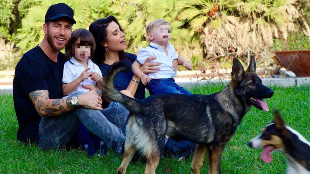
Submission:
MULTIPOLYGON (((292 78, 266 78, 262 79, 263 84, 267 86, 300 86, 310 85, 310 77, 292 77, 292 78)), ((214 85, 228 85, 230 80, 213 80, 213 81, 195 81, 195 82, 179 82, 182 87, 190 87, 193 85, 206 85, 207 83, 214 85)), ((0 89, 0 95, 13 94, 13 89, 0 89)))

